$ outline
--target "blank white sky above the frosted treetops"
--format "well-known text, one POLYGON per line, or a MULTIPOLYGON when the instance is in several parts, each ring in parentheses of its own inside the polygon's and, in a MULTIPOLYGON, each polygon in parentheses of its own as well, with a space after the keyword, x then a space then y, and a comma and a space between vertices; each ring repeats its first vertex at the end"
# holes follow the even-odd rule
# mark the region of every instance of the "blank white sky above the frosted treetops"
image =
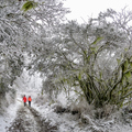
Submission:
POLYGON ((84 22, 90 16, 97 16, 100 11, 113 9, 121 11, 124 7, 132 10, 132 0, 66 0, 64 6, 69 8, 72 13, 66 15, 69 20, 84 22))

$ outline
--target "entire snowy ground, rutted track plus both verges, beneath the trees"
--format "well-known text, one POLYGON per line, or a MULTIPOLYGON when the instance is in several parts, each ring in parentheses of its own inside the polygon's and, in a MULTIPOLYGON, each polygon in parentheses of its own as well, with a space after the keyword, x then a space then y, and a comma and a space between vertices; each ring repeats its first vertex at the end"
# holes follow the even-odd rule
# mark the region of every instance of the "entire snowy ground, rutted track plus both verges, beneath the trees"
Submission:
MULTIPOLYGON (((15 103, 0 117, 0 132, 132 132, 132 114, 113 113, 108 119, 94 119, 89 114, 73 114, 72 111, 56 112, 59 103, 50 103, 46 96, 32 96, 32 107, 24 107, 18 94, 15 103), (37 98, 35 98, 37 96, 37 98), (44 101, 46 100, 46 101, 44 101), (82 120, 87 119, 87 123, 82 120), (127 121, 129 123, 127 123, 127 121)), ((61 106, 59 106, 61 107, 61 106)))

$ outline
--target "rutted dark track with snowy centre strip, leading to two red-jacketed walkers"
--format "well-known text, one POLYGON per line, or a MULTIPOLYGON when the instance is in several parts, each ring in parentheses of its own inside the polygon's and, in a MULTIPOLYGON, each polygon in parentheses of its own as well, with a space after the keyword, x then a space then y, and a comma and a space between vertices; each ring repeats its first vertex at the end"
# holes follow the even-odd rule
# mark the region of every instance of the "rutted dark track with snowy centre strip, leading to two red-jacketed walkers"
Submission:
POLYGON ((52 127, 35 109, 20 107, 7 132, 57 132, 57 127, 52 127))

